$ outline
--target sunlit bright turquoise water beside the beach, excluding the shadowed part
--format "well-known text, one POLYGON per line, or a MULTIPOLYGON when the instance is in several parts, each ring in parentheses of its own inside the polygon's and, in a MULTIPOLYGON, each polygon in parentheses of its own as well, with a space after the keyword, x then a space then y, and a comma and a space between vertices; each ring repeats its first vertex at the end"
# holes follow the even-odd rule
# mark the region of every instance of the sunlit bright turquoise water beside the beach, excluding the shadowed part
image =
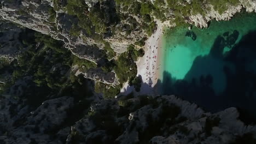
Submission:
MULTIPOLYGON (((232 33, 234 30, 239 32, 239 41, 243 35, 256 29, 256 14, 240 14, 230 21, 213 21, 209 28, 199 29, 193 27, 188 31, 187 27, 176 27, 169 30, 164 40, 164 68, 162 70, 170 72, 176 79, 184 79, 190 70, 197 56, 205 56, 210 53, 214 40, 218 35, 225 32, 232 33), (186 37, 187 32, 194 32, 196 40, 186 37)), ((228 52, 230 48, 224 47, 223 53, 228 52)))

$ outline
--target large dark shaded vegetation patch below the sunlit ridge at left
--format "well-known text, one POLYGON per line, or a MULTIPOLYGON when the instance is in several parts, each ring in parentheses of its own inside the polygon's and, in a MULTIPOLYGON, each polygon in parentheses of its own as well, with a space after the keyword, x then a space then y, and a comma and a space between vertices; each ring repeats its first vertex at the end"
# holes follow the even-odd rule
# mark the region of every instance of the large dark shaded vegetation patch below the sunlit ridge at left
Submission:
POLYGON ((23 96, 31 106, 38 106, 49 97, 72 95, 75 99, 83 100, 91 95, 88 80, 83 76, 74 76, 69 69, 75 64, 84 69, 94 68, 95 63, 73 56, 61 41, 48 35, 25 29, 21 38, 27 50, 11 63, 1 61, 0 71, 8 70, 12 74, 10 79, 4 81, 8 85, 1 85, 1 93, 8 92, 16 81, 31 77, 27 87, 23 87, 23 96))

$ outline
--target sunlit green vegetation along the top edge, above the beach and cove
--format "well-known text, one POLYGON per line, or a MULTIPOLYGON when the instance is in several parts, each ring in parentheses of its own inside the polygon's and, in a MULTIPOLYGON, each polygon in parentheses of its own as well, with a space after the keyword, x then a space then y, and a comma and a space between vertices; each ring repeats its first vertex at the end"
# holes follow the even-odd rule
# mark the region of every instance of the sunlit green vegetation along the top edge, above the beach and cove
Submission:
MULTIPOLYGON (((165 14, 173 11, 173 18, 175 20, 172 22, 179 26, 183 25, 185 18, 190 15, 205 15, 206 10, 209 9, 207 7, 208 3, 212 4, 214 9, 220 14, 224 13, 224 11, 228 9, 229 5, 237 5, 239 3, 238 0, 193 0, 190 3, 185 0, 166 0, 168 6, 168 8, 166 8, 166 4, 162 0, 156 0, 153 4, 146 0, 142 0, 141 2, 115 0, 115 2, 118 5, 124 5, 125 7, 123 7, 123 10, 133 15, 140 15, 141 17, 148 15, 149 19, 143 19, 141 26, 148 35, 151 35, 156 27, 152 19, 152 15, 161 21, 165 21, 167 19, 165 14)), ((168 17, 168 19, 170 20, 172 17, 168 17)))

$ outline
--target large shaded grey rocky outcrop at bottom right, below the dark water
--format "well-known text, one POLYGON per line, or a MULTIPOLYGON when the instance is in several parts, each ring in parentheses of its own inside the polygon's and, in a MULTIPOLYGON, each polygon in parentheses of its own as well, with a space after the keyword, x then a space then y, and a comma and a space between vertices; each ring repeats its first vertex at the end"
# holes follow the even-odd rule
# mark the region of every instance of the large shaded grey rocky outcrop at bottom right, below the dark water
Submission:
POLYGON ((149 103, 147 99, 150 101, 151 98, 128 99, 127 103, 130 105, 128 111, 131 110, 132 112, 126 115, 122 112, 125 112, 124 109, 127 110, 127 106, 122 105, 125 108, 119 107, 114 101, 103 100, 92 105, 91 113, 94 114, 90 115, 95 115, 95 117, 84 117, 78 121, 72 127, 73 133, 68 136, 67 141, 72 143, 72 137, 79 136, 86 137, 83 142, 92 140, 96 142, 95 138, 98 137, 97 142, 113 140, 112 142, 123 144, 137 143, 147 139, 147 143, 159 144, 230 143, 237 136, 256 133, 255 126, 245 125, 237 119, 239 113, 234 107, 212 114, 204 112, 197 105, 181 100, 174 95, 159 96, 151 99, 152 102, 149 103), (139 107, 142 103, 146 105, 139 107), (108 110, 112 114, 109 114, 108 110), (120 128, 123 129, 119 133, 120 135, 112 137, 113 135, 109 135, 108 129, 97 128, 98 122, 95 123, 94 120, 101 119, 100 115, 104 115, 106 119, 118 115, 112 119, 112 127, 116 124, 119 127, 123 125, 124 127, 120 128), (166 123, 166 121, 168 122, 166 123), (150 138, 148 133, 150 135, 155 134, 155 136, 150 138))

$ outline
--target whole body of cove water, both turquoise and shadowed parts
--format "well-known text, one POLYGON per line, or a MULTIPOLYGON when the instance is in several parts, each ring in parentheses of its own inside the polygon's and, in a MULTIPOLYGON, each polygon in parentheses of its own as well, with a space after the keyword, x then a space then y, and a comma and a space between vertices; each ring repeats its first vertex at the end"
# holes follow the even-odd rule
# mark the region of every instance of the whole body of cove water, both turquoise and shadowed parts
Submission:
POLYGON ((256 14, 240 13, 210 27, 175 27, 161 48, 162 94, 216 112, 238 107, 256 118, 256 14))

